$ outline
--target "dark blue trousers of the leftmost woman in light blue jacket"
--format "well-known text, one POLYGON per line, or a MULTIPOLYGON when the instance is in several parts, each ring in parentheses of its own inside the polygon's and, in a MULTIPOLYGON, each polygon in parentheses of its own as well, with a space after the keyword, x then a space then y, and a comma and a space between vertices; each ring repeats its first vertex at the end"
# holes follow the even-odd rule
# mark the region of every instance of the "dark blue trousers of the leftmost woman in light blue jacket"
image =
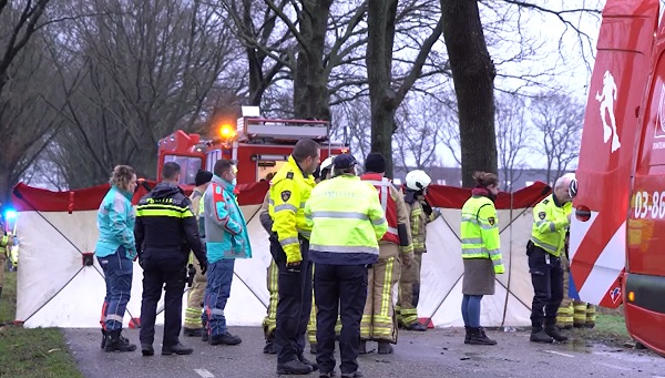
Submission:
POLYGON ((102 327, 105 330, 122 329, 122 318, 132 294, 134 264, 126 251, 120 246, 113 255, 98 257, 104 272, 106 296, 102 306, 102 327))

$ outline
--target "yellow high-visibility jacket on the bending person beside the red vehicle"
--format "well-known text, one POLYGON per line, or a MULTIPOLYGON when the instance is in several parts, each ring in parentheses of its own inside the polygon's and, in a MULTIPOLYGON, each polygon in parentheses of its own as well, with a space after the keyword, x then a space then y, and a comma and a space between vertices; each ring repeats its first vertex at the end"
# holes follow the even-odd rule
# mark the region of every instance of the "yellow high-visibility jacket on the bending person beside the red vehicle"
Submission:
POLYGON ((565 233, 570 227, 569 215, 573 212, 573 203, 561 205, 553 194, 533 207, 533 227, 531 242, 559 257, 565 245, 565 233))

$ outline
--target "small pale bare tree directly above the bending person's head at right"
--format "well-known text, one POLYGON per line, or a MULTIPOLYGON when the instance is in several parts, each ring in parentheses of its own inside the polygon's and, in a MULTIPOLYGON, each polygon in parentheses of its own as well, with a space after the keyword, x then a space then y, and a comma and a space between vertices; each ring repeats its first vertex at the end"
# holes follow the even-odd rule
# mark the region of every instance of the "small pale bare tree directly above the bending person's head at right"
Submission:
POLYGON ((580 156, 584 124, 584 105, 567 94, 541 93, 530 106, 531 121, 540 132, 540 143, 533 149, 546 161, 545 180, 556 180, 572 167, 580 156))

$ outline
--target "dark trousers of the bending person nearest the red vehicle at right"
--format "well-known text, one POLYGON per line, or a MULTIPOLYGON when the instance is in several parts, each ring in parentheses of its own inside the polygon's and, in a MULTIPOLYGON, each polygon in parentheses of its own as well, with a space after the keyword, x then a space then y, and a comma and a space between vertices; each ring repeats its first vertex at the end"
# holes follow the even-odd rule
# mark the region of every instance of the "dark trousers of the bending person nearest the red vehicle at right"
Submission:
POLYGON ((563 268, 561 258, 541 247, 533 246, 529 253, 529 273, 533 284, 531 325, 533 327, 556 324, 556 310, 563 300, 563 268))

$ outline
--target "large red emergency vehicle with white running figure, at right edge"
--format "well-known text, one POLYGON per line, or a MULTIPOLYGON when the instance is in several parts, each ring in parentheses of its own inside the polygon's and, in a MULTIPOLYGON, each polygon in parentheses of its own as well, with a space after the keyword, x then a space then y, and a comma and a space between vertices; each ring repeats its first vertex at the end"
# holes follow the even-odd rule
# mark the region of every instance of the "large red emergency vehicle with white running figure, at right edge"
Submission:
POLYGON ((624 305, 665 356, 665 22, 658 0, 608 0, 589 88, 571 224, 573 296, 624 305))

